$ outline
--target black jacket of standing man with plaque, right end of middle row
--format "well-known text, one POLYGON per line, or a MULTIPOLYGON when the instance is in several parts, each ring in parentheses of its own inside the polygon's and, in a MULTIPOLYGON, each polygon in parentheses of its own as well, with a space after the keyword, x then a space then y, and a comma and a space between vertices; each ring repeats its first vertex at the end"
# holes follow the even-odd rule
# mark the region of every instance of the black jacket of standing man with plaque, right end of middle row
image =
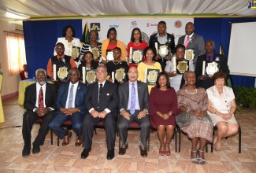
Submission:
MULTIPOLYGON (((196 61, 196 66, 195 66, 195 75, 198 79, 198 77, 200 75, 202 75, 202 62, 206 61, 206 53, 199 56, 198 60, 196 61)), ((213 61, 217 62, 217 66, 219 68, 219 72, 224 72, 227 76, 229 75, 229 69, 228 69, 228 64, 227 64, 227 60, 224 57, 224 55, 218 54, 218 53, 214 53, 213 54, 213 61), (216 57, 219 57, 219 61, 216 61, 216 57)), ((211 61, 206 61, 206 64, 209 63, 211 61)), ((214 85, 213 79, 208 78, 206 80, 198 80, 197 81, 197 85, 201 86, 205 89, 209 88, 210 86, 214 85)))

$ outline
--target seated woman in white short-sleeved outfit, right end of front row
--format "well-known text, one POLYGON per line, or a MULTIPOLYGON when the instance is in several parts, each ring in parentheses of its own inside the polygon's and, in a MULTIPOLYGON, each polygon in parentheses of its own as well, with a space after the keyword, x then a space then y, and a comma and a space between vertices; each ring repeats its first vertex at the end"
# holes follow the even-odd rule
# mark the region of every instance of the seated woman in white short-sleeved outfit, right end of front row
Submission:
POLYGON ((206 90, 209 98, 208 115, 217 127, 217 136, 213 138, 213 145, 217 152, 221 152, 221 139, 236 134, 238 124, 234 116, 236 111, 235 94, 232 88, 224 86, 227 75, 216 72, 213 75, 214 86, 206 90))

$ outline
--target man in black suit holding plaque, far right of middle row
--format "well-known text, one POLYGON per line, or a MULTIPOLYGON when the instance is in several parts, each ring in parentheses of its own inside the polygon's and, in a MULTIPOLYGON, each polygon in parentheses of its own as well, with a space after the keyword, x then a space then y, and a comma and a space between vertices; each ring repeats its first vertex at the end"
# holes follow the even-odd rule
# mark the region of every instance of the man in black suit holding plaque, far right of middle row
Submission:
POLYGON ((212 75, 207 74, 202 75, 202 64, 203 61, 206 61, 205 69, 208 66, 208 63, 217 63, 217 72, 224 72, 227 76, 229 75, 229 69, 227 64, 227 59, 218 53, 214 53, 215 44, 213 40, 207 40, 205 44, 206 53, 198 57, 195 67, 195 75, 198 79, 197 86, 203 87, 205 89, 210 88, 214 85, 212 75))

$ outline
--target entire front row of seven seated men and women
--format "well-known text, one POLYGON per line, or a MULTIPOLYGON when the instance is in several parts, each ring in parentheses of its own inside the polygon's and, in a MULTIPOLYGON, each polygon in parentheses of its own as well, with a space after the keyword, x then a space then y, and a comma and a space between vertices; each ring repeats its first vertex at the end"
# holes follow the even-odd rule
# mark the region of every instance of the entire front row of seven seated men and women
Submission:
POLYGON ((33 142, 32 153, 39 153, 39 145, 43 145, 48 124, 59 138, 63 138, 62 145, 68 145, 72 133, 64 130, 61 125, 70 119, 73 130, 76 131, 75 145, 84 142, 81 153, 83 159, 91 152, 94 127, 100 121, 103 121, 106 130, 106 158, 109 160, 115 156, 116 127, 122 144, 119 154, 125 154, 128 149, 127 130, 132 121, 139 123, 141 127, 140 155, 147 156, 149 115, 157 126, 159 154, 171 154, 169 144, 177 123, 191 138, 191 161, 194 164, 205 164, 203 151, 207 141, 213 142, 216 151, 219 152, 221 138, 237 131, 233 115, 236 111, 235 96, 231 88, 224 86, 226 75, 222 72, 213 75, 215 86, 210 87, 207 94, 206 90, 195 86, 195 72, 186 72, 186 84, 177 95, 170 87, 169 75, 165 72, 158 74, 156 86, 148 94, 147 84, 138 81, 139 73, 135 67, 129 68, 128 82, 119 87, 106 79, 106 66, 96 68, 98 82, 88 86, 80 83, 79 70, 72 68, 69 71, 70 82, 61 84, 58 97, 54 86, 46 83, 46 72, 43 69, 37 70, 36 76, 38 82, 25 90, 24 108, 27 111, 24 113, 22 131, 23 156, 30 154, 32 124, 39 118, 43 119, 43 123, 33 142), (120 116, 117 123, 118 112, 120 116), (217 136, 214 139, 213 125, 217 126, 217 136))

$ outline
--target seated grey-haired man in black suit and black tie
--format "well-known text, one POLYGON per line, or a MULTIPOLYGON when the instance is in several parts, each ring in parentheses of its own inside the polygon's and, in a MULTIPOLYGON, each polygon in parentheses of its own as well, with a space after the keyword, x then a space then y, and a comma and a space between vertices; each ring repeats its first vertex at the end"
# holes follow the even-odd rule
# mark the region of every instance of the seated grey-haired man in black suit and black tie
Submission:
POLYGON ((106 66, 98 66, 96 77, 98 82, 91 83, 88 86, 85 103, 87 115, 83 120, 83 140, 84 149, 81 158, 85 159, 91 151, 91 143, 94 127, 100 121, 103 121, 106 131, 106 145, 108 153, 106 158, 113 159, 115 156, 114 147, 117 128, 117 105, 119 102, 117 93, 117 84, 106 80, 106 66))

